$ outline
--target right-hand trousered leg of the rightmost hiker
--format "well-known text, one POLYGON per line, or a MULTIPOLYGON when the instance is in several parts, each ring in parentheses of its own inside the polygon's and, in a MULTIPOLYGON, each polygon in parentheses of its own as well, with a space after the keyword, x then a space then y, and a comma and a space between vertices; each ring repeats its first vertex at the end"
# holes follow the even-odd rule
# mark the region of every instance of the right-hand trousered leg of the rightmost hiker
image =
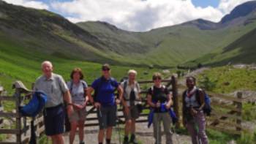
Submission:
POLYGON ((208 144, 208 137, 206 135, 206 118, 203 111, 197 113, 196 120, 199 128, 197 135, 202 144, 208 144))

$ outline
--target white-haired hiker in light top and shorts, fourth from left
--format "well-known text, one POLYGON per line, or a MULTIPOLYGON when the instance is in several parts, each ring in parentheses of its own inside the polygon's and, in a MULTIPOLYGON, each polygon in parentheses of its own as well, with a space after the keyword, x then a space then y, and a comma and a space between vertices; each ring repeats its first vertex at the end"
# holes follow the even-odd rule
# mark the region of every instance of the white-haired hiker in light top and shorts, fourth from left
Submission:
POLYGON ((124 144, 137 143, 135 138, 135 120, 140 113, 138 105, 141 103, 140 86, 136 81, 137 72, 130 69, 128 72, 128 80, 121 83, 124 89, 122 105, 124 106, 125 130, 124 130, 124 144), (131 134, 129 140, 129 133, 131 134))

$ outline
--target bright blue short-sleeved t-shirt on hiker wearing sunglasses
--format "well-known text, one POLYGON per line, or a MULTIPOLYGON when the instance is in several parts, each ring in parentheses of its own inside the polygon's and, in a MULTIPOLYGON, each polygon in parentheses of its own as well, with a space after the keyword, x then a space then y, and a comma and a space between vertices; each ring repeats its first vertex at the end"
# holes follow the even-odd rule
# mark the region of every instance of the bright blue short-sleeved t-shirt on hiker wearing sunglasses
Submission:
POLYGON ((103 106, 115 105, 115 90, 118 83, 112 77, 108 80, 105 77, 99 77, 91 84, 94 91, 97 91, 96 101, 103 106))

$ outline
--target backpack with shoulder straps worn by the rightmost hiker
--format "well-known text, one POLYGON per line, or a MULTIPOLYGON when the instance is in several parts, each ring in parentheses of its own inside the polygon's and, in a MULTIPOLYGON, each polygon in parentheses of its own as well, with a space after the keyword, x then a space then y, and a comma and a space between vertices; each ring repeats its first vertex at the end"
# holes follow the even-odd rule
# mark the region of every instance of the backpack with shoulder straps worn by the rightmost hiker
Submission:
MULTIPOLYGON (((187 90, 184 91, 184 93, 183 93, 183 101, 185 100, 186 92, 187 92, 187 90)), ((211 115, 211 98, 210 98, 210 96, 208 96, 208 94, 206 94, 205 91, 203 91, 203 93, 204 93, 204 99, 205 99, 205 105, 203 106, 203 113, 206 113, 206 115, 211 115)), ((195 97, 197 99, 198 104, 201 105, 198 88, 195 91, 195 97)))

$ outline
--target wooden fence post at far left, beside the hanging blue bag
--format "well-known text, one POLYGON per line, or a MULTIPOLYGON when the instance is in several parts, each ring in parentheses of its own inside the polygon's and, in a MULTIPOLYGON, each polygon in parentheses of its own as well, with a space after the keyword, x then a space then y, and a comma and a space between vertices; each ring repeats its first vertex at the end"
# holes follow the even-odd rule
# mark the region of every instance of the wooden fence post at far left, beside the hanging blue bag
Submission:
POLYGON ((19 107, 20 107, 20 89, 16 88, 15 89, 15 98, 16 98, 16 114, 18 115, 16 118, 16 129, 19 130, 18 134, 16 134, 16 143, 21 143, 21 118, 20 118, 20 112, 19 112, 19 107))

